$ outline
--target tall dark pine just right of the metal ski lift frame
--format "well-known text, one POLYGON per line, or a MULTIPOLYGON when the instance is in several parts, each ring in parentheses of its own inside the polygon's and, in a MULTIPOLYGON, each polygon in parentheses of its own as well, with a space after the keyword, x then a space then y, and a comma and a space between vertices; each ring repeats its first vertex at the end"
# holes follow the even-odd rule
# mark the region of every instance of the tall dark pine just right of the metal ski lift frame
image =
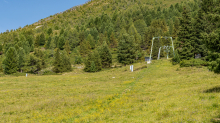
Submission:
POLYGON ((192 25, 189 12, 184 8, 182 18, 180 20, 180 31, 178 33, 177 50, 180 55, 180 59, 189 60, 194 58, 194 48, 191 42, 192 25))

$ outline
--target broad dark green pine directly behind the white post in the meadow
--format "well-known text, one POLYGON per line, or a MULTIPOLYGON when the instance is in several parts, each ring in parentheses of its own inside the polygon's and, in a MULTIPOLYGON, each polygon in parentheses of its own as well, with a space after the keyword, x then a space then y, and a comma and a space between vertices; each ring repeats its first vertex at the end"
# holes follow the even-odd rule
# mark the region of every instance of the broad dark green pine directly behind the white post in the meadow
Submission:
POLYGON ((129 36, 128 34, 122 34, 121 39, 118 44, 118 62, 124 65, 132 64, 135 62, 135 47, 133 36, 129 36))

